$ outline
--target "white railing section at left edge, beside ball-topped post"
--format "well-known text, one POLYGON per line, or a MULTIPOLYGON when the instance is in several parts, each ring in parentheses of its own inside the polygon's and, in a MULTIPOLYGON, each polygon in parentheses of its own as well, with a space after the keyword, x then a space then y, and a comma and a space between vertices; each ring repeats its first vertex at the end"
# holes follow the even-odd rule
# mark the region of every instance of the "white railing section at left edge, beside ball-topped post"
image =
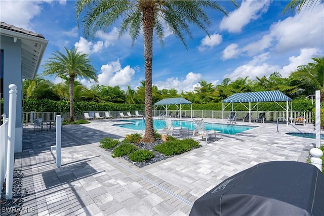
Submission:
POLYGON ((0 184, 3 189, 7 167, 7 144, 8 144, 8 118, 3 114, 3 124, 0 126, 0 184))

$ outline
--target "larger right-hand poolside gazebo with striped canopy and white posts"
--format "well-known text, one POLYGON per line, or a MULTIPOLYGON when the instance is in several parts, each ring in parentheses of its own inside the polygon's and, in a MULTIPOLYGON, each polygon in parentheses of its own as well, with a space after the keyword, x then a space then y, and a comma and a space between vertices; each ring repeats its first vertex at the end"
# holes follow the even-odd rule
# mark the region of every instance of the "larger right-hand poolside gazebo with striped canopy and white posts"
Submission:
MULTIPOLYGON (((233 103, 241 103, 243 106, 245 106, 249 110, 250 114, 250 119, 249 122, 251 123, 251 110, 255 107, 258 106, 260 102, 275 102, 277 105, 279 105, 282 109, 286 110, 286 120, 289 120, 289 102, 290 102, 290 110, 291 110, 291 115, 293 111, 293 99, 285 95, 284 93, 280 91, 266 91, 266 92, 247 92, 247 93, 236 93, 233 94, 232 96, 226 98, 223 100, 222 104, 222 118, 224 121, 224 109, 229 106, 230 104, 232 105, 232 111, 233 111, 233 103), (280 104, 277 102, 281 101, 286 101, 286 108, 282 107, 280 104), (248 103, 249 102, 249 107, 244 105, 243 103, 248 103), (254 105, 251 108, 251 102, 256 102, 257 104, 254 105), (228 103, 224 107, 224 103, 228 103)), ((288 124, 288 122, 287 122, 288 124)))

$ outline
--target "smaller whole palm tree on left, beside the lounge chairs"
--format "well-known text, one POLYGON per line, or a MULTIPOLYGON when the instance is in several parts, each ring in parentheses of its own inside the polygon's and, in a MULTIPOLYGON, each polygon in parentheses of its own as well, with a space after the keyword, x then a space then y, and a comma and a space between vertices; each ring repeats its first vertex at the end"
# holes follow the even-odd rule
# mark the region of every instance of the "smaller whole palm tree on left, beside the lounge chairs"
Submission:
POLYGON ((79 53, 75 48, 68 50, 65 48, 66 55, 55 51, 43 65, 43 75, 55 75, 66 77, 69 80, 70 98, 70 122, 73 118, 73 89, 74 80, 77 76, 85 79, 98 81, 96 69, 90 64, 91 60, 87 54, 79 53))

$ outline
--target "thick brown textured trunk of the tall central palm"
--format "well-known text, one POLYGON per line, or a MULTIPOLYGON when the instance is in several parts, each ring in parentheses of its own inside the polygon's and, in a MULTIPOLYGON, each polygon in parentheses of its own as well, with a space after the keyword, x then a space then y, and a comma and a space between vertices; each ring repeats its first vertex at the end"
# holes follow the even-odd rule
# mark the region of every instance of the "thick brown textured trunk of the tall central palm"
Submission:
POLYGON ((152 116, 152 57, 153 57, 154 11, 151 7, 143 9, 144 60, 145 60, 145 135, 143 142, 154 142, 152 116))

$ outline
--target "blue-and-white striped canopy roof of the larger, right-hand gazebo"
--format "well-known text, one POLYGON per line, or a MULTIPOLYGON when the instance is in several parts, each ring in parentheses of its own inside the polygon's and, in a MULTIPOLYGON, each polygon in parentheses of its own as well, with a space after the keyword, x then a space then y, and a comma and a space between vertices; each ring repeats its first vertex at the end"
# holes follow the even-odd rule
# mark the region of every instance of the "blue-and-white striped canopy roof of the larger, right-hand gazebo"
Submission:
POLYGON ((293 101, 280 91, 236 93, 223 100, 223 103, 293 101))

